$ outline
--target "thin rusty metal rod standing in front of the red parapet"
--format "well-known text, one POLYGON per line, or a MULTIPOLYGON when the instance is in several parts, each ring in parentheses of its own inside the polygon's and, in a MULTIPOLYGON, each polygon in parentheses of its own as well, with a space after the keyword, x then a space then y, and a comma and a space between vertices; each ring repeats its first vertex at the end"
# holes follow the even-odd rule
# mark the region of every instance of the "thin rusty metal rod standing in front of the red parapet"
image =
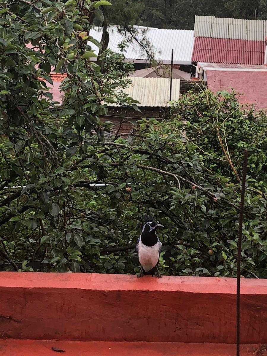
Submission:
POLYGON ((242 242, 242 225, 244 212, 244 199, 247 174, 247 150, 244 152, 243 158, 243 177, 241 188, 241 201, 239 212, 239 231, 237 244, 237 283, 236 283, 236 356, 240 356, 240 261, 241 261, 241 242, 242 242))

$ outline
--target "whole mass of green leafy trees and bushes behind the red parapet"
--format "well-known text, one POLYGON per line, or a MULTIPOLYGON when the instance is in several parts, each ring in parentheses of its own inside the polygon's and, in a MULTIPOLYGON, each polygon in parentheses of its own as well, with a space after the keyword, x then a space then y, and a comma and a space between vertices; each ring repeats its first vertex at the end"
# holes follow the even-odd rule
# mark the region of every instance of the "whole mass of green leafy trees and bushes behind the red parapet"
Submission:
POLYGON ((134 122, 131 143, 119 133, 106 142, 111 124, 100 117, 109 102, 131 104, 117 89, 132 67, 110 51, 102 54, 105 74, 89 61, 87 40, 101 47, 88 38, 100 5, 108 2, 1 3, 2 261, 22 270, 134 273, 133 247, 150 214, 165 226, 164 274, 235 276, 247 148, 241 269, 266 277, 266 116, 242 108, 233 93, 202 91, 173 103, 169 120, 134 122), (46 89, 51 67, 67 73, 62 108, 46 89))

